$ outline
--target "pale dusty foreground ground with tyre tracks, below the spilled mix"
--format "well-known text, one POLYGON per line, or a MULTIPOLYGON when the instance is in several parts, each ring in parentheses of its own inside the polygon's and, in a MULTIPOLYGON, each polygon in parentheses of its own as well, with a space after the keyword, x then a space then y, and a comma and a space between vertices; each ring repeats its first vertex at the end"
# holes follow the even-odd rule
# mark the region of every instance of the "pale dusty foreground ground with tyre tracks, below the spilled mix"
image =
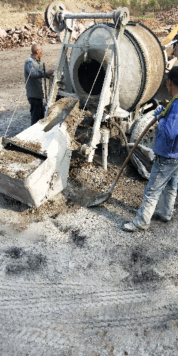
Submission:
POLYGON ((1 355, 177 355, 175 219, 128 234, 108 203, 25 228, 11 204, 1 197, 1 355))

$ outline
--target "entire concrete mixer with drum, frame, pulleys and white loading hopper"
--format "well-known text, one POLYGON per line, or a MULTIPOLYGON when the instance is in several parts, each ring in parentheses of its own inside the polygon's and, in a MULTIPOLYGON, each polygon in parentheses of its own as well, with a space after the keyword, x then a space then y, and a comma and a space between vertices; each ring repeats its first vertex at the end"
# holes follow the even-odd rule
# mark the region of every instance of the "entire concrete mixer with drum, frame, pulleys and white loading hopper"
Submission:
MULTIPOLYGON (((90 110, 94 123, 81 152, 91 162, 102 143, 106 169, 112 127, 115 124, 123 134, 134 133, 135 139, 140 130, 138 112, 147 107, 152 111, 143 115, 144 122, 152 120, 157 105, 152 98, 165 72, 159 40, 145 26, 129 21, 127 8, 74 14, 54 1, 45 19, 51 31, 65 30, 45 117, 14 138, 0 140, 1 161, 6 162, 0 164, 0 191, 30 206, 39 206, 66 187, 72 141, 85 110, 90 110), (94 24, 72 43, 76 19, 92 19, 94 24), (104 22, 95 23, 98 19, 104 22), (18 161, 20 155, 25 156, 23 163, 18 161)), ((155 130, 149 130, 150 145, 152 133, 155 130)))

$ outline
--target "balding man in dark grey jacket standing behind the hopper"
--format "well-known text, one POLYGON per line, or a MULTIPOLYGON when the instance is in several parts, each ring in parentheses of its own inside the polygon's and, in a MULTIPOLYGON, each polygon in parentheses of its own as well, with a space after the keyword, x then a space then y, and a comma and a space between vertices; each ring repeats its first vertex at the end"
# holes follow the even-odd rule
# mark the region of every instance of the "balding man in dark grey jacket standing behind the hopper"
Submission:
MULTIPOLYGON (((31 104, 31 125, 44 118, 44 98, 42 90, 42 78, 44 78, 44 71, 40 64, 42 58, 42 47, 40 44, 33 44, 31 47, 31 57, 28 58, 24 66, 24 76, 26 83, 26 96, 31 104)), ((49 74, 53 74, 53 70, 46 72, 47 78, 49 74)))

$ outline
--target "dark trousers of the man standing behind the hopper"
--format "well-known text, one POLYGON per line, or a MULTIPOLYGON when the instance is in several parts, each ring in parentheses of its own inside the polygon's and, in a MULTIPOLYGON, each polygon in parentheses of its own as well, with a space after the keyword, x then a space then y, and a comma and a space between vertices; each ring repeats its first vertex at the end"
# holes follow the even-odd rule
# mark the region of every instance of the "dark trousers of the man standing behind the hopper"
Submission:
POLYGON ((31 104, 31 126, 44 118, 45 107, 42 99, 35 99, 29 97, 29 104, 31 104))

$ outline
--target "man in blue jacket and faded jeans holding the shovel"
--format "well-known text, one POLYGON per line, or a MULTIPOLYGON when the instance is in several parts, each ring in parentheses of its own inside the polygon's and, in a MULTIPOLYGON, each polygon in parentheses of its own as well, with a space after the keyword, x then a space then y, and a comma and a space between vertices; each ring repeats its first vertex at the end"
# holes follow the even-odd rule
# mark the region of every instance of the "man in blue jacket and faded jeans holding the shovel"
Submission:
POLYGON ((156 159, 143 195, 143 204, 132 222, 124 224, 124 230, 146 230, 156 209, 156 217, 168 222, 177 195, 178 178, 178 66, 168 73, 167 88, 173 97, 166 108, 155 111, 158 131, 153 147, 156 159), (157 207, 156 207, 157 204, 157 207))

